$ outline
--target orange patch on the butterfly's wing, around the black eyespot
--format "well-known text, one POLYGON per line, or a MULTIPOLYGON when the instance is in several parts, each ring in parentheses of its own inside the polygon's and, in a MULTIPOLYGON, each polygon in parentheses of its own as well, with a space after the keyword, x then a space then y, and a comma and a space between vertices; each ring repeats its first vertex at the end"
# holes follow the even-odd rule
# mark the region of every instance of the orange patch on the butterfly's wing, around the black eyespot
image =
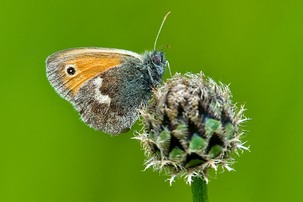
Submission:
POLYGON ((102 55, 101 57, 92 55, 81 56, 68 60, 65 62, 65 66, 69 64, 75 65, 76 75, 72 77, 66 76, 64 83, 66 83, 66 87, 75 95, 84 82, 121 63, 121 56, 113 54, 102 55))

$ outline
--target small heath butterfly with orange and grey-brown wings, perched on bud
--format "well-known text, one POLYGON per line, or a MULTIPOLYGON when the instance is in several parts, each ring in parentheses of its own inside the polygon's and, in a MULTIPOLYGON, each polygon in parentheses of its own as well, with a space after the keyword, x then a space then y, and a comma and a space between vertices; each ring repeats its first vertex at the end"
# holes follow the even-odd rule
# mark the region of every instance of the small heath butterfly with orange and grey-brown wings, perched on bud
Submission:
POLYGON ((116 135, 128 131, 138 119, 138 109, 150 99, 168 63, 164 52, 155 49, 169 13, 153 51, 73 48, 47 58, 49 82, 90 127, 116 135))

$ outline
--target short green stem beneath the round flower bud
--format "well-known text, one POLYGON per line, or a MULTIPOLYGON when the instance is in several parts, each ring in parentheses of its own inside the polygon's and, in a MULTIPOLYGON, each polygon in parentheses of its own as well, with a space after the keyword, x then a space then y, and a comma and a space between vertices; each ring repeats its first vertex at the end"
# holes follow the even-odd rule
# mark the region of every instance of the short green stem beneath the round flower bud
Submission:
POLYGON ((207 184, 201 177, 194 177, 191 183, 193 202, 208 202, 207 184))

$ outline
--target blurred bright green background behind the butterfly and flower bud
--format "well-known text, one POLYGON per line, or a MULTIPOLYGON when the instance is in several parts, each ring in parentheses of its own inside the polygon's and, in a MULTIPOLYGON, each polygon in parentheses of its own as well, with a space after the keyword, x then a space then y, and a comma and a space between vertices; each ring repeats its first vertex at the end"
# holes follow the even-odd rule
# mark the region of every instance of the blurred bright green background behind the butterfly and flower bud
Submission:
POLYGON ((142 172, 132 132, 90 129, 45 76, 61 49, 152 49, 167 11, 158 46, 170 46, 172 71, 231 83, 252 118, 251 152, 210 178, 210 201, 302 201, 302 10, 301 0, 2 0, 0 201, 191 201, 184 180, 142 172))

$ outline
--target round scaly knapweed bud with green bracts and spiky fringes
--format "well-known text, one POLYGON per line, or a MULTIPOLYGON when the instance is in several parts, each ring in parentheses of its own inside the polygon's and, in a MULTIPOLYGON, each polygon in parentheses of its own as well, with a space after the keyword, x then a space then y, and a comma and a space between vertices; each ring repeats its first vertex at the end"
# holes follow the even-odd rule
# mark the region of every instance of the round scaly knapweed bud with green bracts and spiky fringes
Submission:
POLYGON ((219 165, 232 170, 232 153, 243 146, 240 125, 247 120, 244 107, 231 102, 228 86, 200 74, 177 74, 157 88, 141 111, 140 140, 148 157, 146 168, 171 176, 207 181, 207 170, 219 165))

